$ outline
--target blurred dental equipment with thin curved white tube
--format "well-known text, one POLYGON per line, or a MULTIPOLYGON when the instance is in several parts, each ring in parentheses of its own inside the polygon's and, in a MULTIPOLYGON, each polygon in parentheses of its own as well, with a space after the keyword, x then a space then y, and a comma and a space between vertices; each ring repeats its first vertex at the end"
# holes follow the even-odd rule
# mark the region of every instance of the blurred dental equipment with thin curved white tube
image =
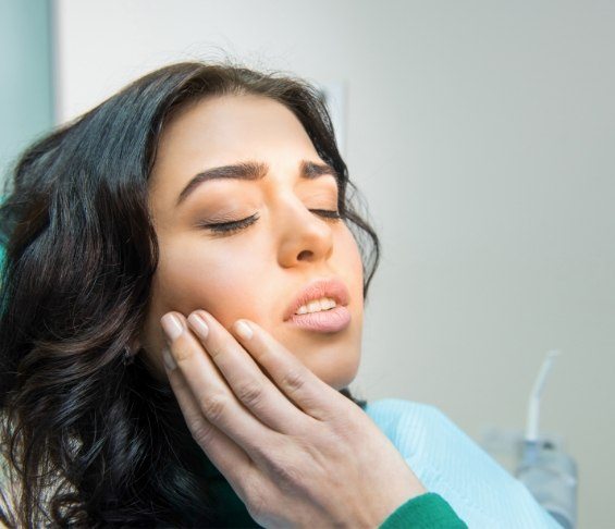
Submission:
POLYGON ((562 447, 539 434, 540 399, 558 350, 550 350, 534 381, 521 445, 521 460, 515 475, 534 499, 564 528, 577 524, 577 466, 562 447))

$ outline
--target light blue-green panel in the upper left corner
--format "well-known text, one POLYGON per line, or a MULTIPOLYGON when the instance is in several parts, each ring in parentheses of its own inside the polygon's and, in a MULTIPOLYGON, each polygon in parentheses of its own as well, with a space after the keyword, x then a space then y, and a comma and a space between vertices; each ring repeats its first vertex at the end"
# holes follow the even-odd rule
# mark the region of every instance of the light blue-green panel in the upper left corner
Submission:
POLYGON ((49 0, 0 0, 0 179, 53 124, 49 0))

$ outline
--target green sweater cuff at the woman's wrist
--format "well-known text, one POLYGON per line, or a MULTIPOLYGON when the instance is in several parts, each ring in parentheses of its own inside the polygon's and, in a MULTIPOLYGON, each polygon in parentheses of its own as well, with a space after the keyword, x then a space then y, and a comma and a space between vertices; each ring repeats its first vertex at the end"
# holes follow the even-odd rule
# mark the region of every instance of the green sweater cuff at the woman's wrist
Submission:
POLYGON ((379 529, 467 529, 451 505, 440 495, 427 492, 397 507, 379 529))

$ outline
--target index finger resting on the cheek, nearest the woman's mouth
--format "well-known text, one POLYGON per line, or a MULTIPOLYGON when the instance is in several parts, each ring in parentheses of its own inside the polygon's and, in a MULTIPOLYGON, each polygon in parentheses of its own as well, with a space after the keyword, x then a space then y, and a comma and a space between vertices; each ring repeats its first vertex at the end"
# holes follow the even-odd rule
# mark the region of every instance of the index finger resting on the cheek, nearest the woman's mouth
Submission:
POLYGON ((244 348, 300 409, 320 420, 335 415, 340 393, 320 380, 267 331, 248 320, 238 320, 232 329, 244 348))

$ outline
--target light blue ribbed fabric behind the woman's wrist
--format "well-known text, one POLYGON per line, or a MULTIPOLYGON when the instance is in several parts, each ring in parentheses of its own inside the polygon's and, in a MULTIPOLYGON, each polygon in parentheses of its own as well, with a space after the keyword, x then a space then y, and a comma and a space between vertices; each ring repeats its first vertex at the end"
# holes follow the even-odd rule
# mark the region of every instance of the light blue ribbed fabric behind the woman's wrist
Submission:
POLYGON ((436 407, 389 398, 369 403, 366 413, 426 489, 446 500, 468 527, 561 528, 520 481, 436 407))

